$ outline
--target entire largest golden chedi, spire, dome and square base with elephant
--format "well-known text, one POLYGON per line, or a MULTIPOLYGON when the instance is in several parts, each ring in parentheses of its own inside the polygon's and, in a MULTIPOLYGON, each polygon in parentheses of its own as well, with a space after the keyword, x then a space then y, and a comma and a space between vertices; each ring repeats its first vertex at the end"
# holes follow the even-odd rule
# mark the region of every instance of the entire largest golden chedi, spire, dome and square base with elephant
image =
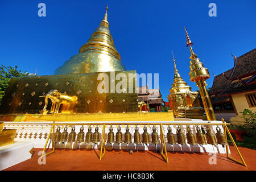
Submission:
POLYGON ((86 113, 137 113, 137 78, 129 80, 130 73, 135 75, 136 71, 126 71, 121 63, 109 30, 107 7, 100 26, 79 54, 57 68, 55 75, 12 78, 2 99, 0 114, 33 114, 34 118, 38 118, 36 114, 53 114, 51 118, 59 121, 67 117, 82 120, 86 117, 81 114, 86 113), (115 76, 119 73, 126 76, 122 82, 126 82, 129 93, 125 88, 121 93, 116 92, 120 81, 115 76), (102 81, 105 84, 101 88, 105 91, 99 92, 102 81), (56 118, 58 114, 67 117, 56 118))

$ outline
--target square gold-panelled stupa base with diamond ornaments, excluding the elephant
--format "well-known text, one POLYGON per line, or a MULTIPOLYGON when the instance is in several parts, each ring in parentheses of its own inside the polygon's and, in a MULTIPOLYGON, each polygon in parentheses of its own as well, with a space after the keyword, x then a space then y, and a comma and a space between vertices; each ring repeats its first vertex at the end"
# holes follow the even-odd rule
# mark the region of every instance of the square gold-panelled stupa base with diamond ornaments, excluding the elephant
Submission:
MULTIPOLYGON (((133 78, 133 93, 110 93, 110 84, 112 84, 110 72, 104 73, 109 76, 109 93, 102 94, 97 91, 97 86, 101 82, 101 80, 97 80, 100 73, 12 78, 5 96, 2 98, 0 114, 42 114, 46 105, 44 96, 50 90, 57 90, 61 94, 77 97, 77 102, 73 103, 72 107, 63 102, 59 113, 138 112, 138 95, 135 92, 137 89, 136 78, 133 78), (35 86, 35 84, 38 84, 38 86, 35 86), (25 93, 24 96, 23 93, 25 93)), ((127 80, 125 81, 127 82, 127 88, 129 88, 129 73, 135 74, 136 71, 115 72, 115 76, 118 73, 126 75, 127 80)), ((114 81, 115 85, 120 82, 119 80, 114 81)), ((51 107, 54 107, 54 104, 52 106, 51 99, 48 99, 46 110, 51 110, 51 107)))

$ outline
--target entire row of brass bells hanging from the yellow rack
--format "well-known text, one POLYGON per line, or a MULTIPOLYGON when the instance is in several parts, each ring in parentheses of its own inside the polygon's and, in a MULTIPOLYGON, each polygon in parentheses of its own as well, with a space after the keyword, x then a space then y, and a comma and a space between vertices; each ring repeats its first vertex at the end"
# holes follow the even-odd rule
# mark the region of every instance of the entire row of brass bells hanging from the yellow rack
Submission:
MULTIPOLYGON (((56 133, 53 136, 53 142, 75 142, 76 140, 76 132, 75 132, 75 126, 72 127, 72 131, 71 133, 68 134, 68 127, 66 126, 64 128, 63 133, 60 133, 60 126, 57 128, 56 133)), ((126 133, 125 133, 125 143, 131 143, 131 133, 129 131, 129 127, 126 127, 126 133)), ((139 144, 141 143, 141 134, 139 134, 138 131, 138 127, 135 127, 135 133, 134 133, 134 143, 135 144, 139 144)), ((145 144, 149 144, 150 143, 150 135, 147 133, 147 127, 144 126, 143 127, 143 134, 142 134, 142 143, 145 144)), ((156 127, 153 126, 152 127, 152 134, 151 134, 151 139, 153 144, 158 144, 159 141, 159 136, 158 133, 156 133, 156 127)), ((172 133, 171 127, 168 126, 167 128, 168 133, 167 133, 167 142, 169 144, 175 144, 175 137, 174 134, 172 133)), ((217 133, 216 133, 216 138, 217 138, 217 142, 216 142, 216 138, 214 136, 214 134, 211 133, 209 127, 206 127, 207 133, 204 135, 203 133, 201 133, 201 130, 199 129, 198 126, 196 126, 196 139, 195 139, 195 135, 191 132, 191 129, 189 126, 187 126, 187 141, 189 144, 213 144, 216 145, 218 144, 222 144, 222 145, 226 145, 228 144, 225 138, 225 135, 221 133, 221 129, 220 127, 217 126, 217 133), (207 141, 207 142, 206 142, 207 141)), ((176 133, 177 133, 177 143, 179 144, 186 144, 185 142, 185 136, 182 133, 180 126, 177 127, 176 129, 176 133)), ((88 128, 88 132, 84 133, 84 127, 82 126, 80 129, 79 134, 77 134, 77 142, 92 142, 92 143, 97 143, 100 142, 100 133, 98 132, 98 126, 95 129, 95 132, 92 133, 92 127, 89 126, 88 128), (84 140, 85 137, 85 140, 84 140)), ((115 134, 115 140, 114 140, 114 133, 113 133, 113 127, 110 126, 109 128, 109 134, 108 134, 108 143, 122 143, 122 133, 121 133, 121 127, 119 126, 117 128, 117 133, 115 134)))

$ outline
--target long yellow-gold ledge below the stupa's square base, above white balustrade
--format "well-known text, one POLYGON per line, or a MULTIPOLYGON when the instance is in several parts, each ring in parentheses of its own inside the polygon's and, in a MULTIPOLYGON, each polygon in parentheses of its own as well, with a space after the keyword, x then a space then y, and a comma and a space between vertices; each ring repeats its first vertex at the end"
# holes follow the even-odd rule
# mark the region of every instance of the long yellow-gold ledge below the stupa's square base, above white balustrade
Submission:
POLYGON ((174 121, 172 111, 162 113, 6 114, 0 121, 174 121))

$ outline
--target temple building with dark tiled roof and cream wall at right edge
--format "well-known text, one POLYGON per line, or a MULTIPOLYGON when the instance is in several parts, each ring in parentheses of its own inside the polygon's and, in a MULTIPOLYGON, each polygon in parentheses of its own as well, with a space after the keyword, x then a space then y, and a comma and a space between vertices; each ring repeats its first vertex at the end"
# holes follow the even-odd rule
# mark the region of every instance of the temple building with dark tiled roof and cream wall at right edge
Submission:
POLYGON ((214 76, 210 100, 220 117, 243 123, 244 109, 256 111, 256 48, 233 57, 234 67, 214 76))

